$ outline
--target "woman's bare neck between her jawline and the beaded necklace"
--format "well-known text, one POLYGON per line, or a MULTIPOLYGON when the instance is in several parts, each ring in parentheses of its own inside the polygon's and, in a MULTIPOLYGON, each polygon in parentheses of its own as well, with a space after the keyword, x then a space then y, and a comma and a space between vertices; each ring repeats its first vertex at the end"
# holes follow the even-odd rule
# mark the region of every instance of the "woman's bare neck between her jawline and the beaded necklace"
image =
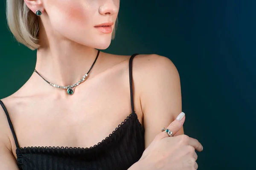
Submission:
MULTIPOLYGON (((52 43, 50 48, 49 46, 38 48, 35 69, 52 84, 72 85, 89 71, 97 53, 98 50, 91 47, 70 41, 59 41, 52 43)), ((93 69, 97 66, 97 61, 93 69)), ((90 72, 93 72, 93 69, 90 72)))

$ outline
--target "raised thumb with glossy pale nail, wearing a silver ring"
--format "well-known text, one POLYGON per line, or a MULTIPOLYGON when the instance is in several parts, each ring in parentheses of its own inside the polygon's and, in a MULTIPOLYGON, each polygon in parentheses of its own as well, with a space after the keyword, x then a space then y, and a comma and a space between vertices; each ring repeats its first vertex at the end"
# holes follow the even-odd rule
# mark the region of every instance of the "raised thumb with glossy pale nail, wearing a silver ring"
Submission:
MULTIPOLYGON (((183 126, 184 121, 185 121, 185 113, 181 112, 177 116, 177 118, 166 129, 169 129, 172 132, 172 134, 175 135, 175 133, 177 133, 183 126)), ((164 131, 162 132, 162 134, 163 134, 163 138, 167 136, 169 137, 169 135, 164 131)))

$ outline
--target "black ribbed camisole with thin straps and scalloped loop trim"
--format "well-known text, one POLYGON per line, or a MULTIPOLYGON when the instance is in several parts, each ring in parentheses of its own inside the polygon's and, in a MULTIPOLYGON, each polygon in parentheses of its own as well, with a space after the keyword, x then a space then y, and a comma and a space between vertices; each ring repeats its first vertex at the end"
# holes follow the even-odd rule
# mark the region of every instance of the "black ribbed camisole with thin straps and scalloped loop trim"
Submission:
POLYGON ((83 147, 19 147, 6 107, 0 100, 11 128, 20 170, 127 170, 137 162, 145 148, 145 129, 134 111, 132 60, 129 79, 132 112, 113 132, 90 148, 83 147))

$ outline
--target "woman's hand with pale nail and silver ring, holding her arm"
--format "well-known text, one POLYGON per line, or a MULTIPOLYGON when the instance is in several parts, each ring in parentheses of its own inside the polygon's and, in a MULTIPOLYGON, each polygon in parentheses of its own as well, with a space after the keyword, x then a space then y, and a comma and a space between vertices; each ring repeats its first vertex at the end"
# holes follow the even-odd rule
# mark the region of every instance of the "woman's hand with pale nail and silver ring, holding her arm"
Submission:
MULTIPOLYGON (((185 114, 181 112, 167 129, 175 134, 183 126, 184 121, 185 114)), ((195 150, 203 150, 197 139, 187 135, 169 137, 163 131, 149 144, 137 163, 143 170, 197 170, 198 156, 195 150)))

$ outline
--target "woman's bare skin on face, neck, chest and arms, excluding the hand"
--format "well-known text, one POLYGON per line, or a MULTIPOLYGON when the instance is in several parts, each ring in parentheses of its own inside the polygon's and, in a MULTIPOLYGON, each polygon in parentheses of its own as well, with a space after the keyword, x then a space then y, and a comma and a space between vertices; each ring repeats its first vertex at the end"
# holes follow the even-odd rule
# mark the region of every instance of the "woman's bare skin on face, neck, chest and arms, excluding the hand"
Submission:
MULTIPOLYGON (((35 69, 49 82, 74 84, 87 73, 111 33, 94 26, 113 21, 119 0, 24 0, 42 10, 35 69)), ((114 27, 114 25, 112 26, 114 27)), ((35 72, 14 94, 1 99, 20 147, 91 147, 131 113, 128 63, 131 55, 100 52, 86 81, 72 96, 49 86, 35 72)), ((145 127, 145 148, 181 109, 180 78, 168 58, 137 55, 133 60, 134 109, 145 127)), ((175 135, 183 134, 181 128, 175 135)), ((0 170, 17 169, 15 141, 0 109, 0 170)))

